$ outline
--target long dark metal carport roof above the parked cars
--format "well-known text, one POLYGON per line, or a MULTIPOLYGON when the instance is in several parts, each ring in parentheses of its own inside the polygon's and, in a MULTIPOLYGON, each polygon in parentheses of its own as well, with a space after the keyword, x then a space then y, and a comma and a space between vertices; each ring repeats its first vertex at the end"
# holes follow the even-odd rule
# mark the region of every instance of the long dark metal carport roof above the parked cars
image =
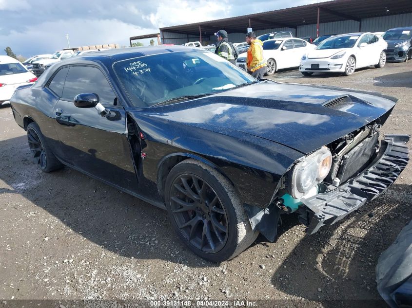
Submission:
POLYGON ((200 26, 202 33, 207 32, 208 35, 213 35, 219 29, 225 29, 228 33, 245 33, 249 26, 252 26, 253 30, 281 27, 296 29, 300 25, 317 23, 318 10, 320 23, 348 19, 361 21, 362 18, 411 13, 412 0, 334 0, 232 18, 163 27, 160 31, 199 35, 200 26))

